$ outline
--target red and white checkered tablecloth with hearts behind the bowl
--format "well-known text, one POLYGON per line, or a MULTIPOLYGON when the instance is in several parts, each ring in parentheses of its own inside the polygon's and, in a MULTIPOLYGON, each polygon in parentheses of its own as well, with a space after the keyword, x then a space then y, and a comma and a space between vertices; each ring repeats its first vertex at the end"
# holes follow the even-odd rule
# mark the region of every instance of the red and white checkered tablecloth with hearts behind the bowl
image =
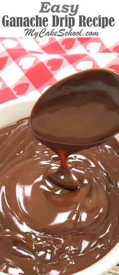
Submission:
MULTIPOLYGON (((34 97, 56 81, 89 68, 119 73, 113 38, 0 38, 0 103, 34 97)), ((119 265, 106 275, 119 275, 119 265)))

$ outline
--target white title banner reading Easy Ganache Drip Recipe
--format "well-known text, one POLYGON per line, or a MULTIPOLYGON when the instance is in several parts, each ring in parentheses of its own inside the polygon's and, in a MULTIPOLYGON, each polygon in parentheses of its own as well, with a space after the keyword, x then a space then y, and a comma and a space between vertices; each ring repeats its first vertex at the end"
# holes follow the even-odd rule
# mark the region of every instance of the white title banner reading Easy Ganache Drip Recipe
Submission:
POLYGON ((116 37, 118 0, 2 0, 0 37, 116 37))

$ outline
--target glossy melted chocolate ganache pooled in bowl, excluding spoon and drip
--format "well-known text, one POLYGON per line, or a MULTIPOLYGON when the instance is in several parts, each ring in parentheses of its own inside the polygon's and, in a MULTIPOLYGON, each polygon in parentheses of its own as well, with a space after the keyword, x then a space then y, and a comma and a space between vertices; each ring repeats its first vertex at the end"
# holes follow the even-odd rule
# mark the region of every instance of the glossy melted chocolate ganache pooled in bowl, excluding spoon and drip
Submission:
POLYGON ((119 239, 119 145, 114 138, 68 157, 72 191, 48 177, 57 155, 28 120, 0 130, 0 270, 69 275, 102 258, 119 239))

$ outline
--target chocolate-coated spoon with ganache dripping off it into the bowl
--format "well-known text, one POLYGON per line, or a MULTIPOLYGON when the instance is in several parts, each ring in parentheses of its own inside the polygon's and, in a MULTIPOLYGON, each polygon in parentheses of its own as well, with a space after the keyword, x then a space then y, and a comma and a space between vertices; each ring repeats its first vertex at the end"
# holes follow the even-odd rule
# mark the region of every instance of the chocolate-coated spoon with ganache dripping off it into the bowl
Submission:
MULTIPOLYGON (((66 158, 101 144, 119 131, 119 76, 106 69, 71 75, 51 86, 35 103, 32 133, 61 158, 61 175, 51 178, 71 188, 66 158), (57 180, 56 180, 57 179, 57 180)), ((78 185, 72 175, 72 188, 78 185)), ((78 180, 79 182, 79 180, 78 180)))

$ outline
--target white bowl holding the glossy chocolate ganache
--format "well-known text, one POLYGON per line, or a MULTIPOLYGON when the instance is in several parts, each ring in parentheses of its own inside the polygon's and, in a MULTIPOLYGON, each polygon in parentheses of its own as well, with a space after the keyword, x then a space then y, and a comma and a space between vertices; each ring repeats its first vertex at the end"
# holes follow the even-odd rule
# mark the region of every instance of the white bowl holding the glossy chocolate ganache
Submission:
MULTIPOLYGON (((32 107, 38 96, 34 99, 20 98, 10 102, 6 102, 0 105, 0 127, 6 126, 17 120, 30 116, 32 107)), ((119 134, 116 135, 119 141, 119 134)), ((117 206, 118 207, 118 206, 117 206)), ((0 255, 1 257, 1 255, 0 255)), ((88 268, 75 273, 74 275, 102 275, 119 262, 119 242, 106 254, 101 260, 92 264, 88 268)), ((0 275, 4 275, 4 272, 0 271, 0 275)))

